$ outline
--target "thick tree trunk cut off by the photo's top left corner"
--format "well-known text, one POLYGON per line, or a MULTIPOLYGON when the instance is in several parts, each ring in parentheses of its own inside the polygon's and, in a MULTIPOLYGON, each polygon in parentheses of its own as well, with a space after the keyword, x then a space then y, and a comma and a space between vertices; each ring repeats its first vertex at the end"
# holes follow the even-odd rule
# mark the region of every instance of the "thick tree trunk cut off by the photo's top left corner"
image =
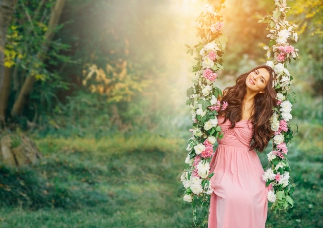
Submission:
POLYGON ((0 91, 5 74, 6 34, 17 0, 0 0, 0 91))

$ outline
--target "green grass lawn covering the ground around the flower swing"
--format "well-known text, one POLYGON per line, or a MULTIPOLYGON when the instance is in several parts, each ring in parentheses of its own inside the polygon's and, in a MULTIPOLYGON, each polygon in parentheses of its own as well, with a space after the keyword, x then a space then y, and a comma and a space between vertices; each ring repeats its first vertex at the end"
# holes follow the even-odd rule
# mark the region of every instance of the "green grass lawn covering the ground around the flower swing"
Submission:
MULTIPOLYGON (((7 169, 10 179, 2 175, 18 194, 25 191, 19 181, 36 188, 22 192, 26 203, 20 196, 14 201, 18 195, 0 195, 0 227, 192 227, 179 181, 190 135, 181 135, 36 138, 42 161, 31 169, 7 169)), ((269 211, 266 227, 323 226, 322 138, 320 124, 299 124, 289 150, 294 208, 281 215, 269 211)), ((269 150, 259 154, 264 166, 269 150)), ((197 219, 203 217, 199 210, 197 219)))

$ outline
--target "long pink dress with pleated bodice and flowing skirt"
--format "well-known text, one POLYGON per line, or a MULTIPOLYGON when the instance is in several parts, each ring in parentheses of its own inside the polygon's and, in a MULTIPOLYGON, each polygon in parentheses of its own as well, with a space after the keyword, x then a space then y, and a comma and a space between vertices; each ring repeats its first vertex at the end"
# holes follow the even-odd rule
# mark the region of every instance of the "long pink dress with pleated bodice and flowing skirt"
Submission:
POLYGON ((266 182, 258 155, 249 150, 253 126, 248 120, 230 120, 218 125, 224 133, 210 163, 213 194, 209 228, 265 228, 267 219, 266 182))

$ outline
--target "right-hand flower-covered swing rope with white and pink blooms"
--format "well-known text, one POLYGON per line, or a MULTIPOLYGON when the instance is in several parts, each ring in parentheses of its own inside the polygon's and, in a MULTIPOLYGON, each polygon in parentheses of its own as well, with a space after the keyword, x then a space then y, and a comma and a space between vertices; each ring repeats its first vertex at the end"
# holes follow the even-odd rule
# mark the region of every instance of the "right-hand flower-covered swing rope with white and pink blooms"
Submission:
POLYGON ((291 58, 297 59, 297 49, 288 43, 288 39, 297 42, 297 33, 292 29, 297 25, 290 25, 286 20, 286 12, 290 7, 286 6, 286 0, 275 0, 275 10, 270 16, 266 16, 259 23, 267 24, 270 34, 269 46, 265 46, 267 57, 274 53, 274 61, 268 61, 267 65, 272 67, 277 77, 274 79, 273 87, 277 93, 277 108, 270 119, 271 129, 274 131, 273 150, 267 155, 270 168, 266 170, 263 179, 268 188, 268 201, 272 202, 271 210, 276 213, 286 212, 293 207, 292 194, 295 184, 289 181, 290 167, 286 158, 287 144, 293 138, 293 131, 290 128, 289 120, 294 103, 294 93, 290 92, 291 80, 293 77, 286 69, 291 63, 291 58))

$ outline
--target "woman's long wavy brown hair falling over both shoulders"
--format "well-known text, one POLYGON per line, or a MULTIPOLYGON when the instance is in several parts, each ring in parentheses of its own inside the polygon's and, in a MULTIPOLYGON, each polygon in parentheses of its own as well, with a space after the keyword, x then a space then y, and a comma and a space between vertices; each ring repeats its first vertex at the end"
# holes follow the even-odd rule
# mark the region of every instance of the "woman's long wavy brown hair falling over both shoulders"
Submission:
POLYGON ((273 135, 273 131, 270 128, 270 117, 273 114, 273 106, 276 105, 276 92, 273 88, 273 77, 275 77, 274 70, 266 65, 258 66, 250 70, 249 72, 240 75, 236 79, 236 85, 227 87, 224 90, 224 96, 222 101, 229 103, 228 108, 225 111, 219 111, 220 116, 224 116, 224 122, 229 119, 231 122, 230 128, 235 127, 235 123, 242 118, 243 100, 247 93, 246 78, 247 76, 259 69, 265 68, 270 75, 265 93, 257 93, 253 100, 254 109, 253 115, 250 120, 253 121, 253 136, 250 145, 250 150, 256 149, 259 152, 263 152, 267 147, 269 140, 273 135))

